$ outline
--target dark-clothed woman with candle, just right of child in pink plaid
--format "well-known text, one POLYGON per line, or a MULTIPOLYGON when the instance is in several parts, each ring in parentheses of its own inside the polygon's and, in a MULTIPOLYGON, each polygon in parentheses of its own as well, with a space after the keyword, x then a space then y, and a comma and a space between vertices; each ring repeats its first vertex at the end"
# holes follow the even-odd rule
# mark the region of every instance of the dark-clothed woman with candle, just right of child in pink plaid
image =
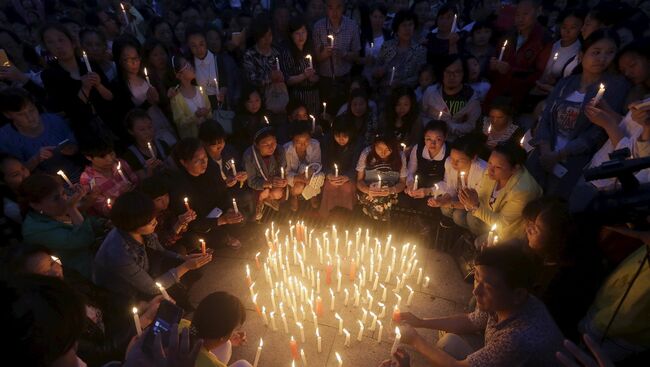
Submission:
POLYGON ((145 110, 129 111, 124 123, 135 141, 124 153, 124 160, 138 179, 143 180, 164 167, 171 149, 164 140, 156 139, 153 121, 145 110))

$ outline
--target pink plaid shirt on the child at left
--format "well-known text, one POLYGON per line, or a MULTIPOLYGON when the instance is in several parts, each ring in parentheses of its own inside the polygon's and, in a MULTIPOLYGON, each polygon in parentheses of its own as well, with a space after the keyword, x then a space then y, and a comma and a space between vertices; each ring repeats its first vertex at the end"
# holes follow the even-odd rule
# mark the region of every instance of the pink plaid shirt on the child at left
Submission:
POLYGON ((120 174, 117 171, 117 164, 113 167, 113 175, 111 177, 105 177, 99 171, 94 169, 92 166, 87 166, 79 183, 86 186, 88 189, 91 189, 91 182, 93 187, 97 187, 99 190, 99 195, 95 199, 93 204, 93 209, 102 216, 108 216, 108 207, 106 205, 106 199, 110 198, 111 201, 115 202, 115 199, 127 191, 131 191, 138 183, 138 177, 133 173, 131 167, 126 161, 118 159, 121 163, 120 169, 126 177, 127 181, 123 180, 120 174))

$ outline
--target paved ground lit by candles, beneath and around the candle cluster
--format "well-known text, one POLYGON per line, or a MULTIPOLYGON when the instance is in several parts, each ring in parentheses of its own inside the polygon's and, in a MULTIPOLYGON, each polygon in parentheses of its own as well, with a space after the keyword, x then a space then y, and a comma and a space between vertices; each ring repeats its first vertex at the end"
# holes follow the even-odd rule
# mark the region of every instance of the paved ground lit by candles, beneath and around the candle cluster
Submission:
MULTIPOLYGON (((318 228, 316 231, 322 231, 329 221, 310 220, 309 213, 304 213, 304 218, 310 227, 318 228)), ((296 218, 303 218, 294 216, 296 218)), ((282 233, 286 233, 288 220, 291 219, 286 215, 274 214, 271 216, 277 224, 282 224, 282 233)), ((343 236, 346 229, 345 224, 350 224, 350 233, 353 233, 356 228, 366 228, 369 224, 364 218, 357 215, 350 215, 344 218, 332 219, 337 223, 339 237, 343 236)), ((385 231, 393 233, 393 244, 400 245, 406 240, 418 245, 419 266, 423 267, 424 274, 431 277, 431 282, 428 288, 414 287, 416 289, 413 303, 411 307, 406 307, 406 297, 408 290, 401 291, 402 296, 402 311, 411 311, 417 315, 422 316, 442 316, 449 315, 456 312, 462 312, 470 297, 471 287, 462 280, 461 274, 456 266, 454 260, 447 254, 438 252, 427 248, 427 238, 422 238, 417 235, 417 230, 413 227, 412 218, 395 218, 391 223, 374 224, 374 232, 377 237, 380 237, 385 231), (418 238, 419 237, 419 238, 418 238), (423 243, 423 244, 422 244, 423 243)), ((268 227, 267 224, 250 224, 246 225, 245 230, 242 231, 241 240, 244 246, 239 251, 232 251, 230 249, 219 249, 215 251, 214 260, 204 269, 204 276, 194 285, 191 292, 191 300, 193 303, 198 304, 202 297, 210 292, 216 290, 224 290, 239 296, 247 309, 247 321, 243 327, 248 337, 248 344, 233 351, 232 361, 238 359, 246 359, 253 362, 259 339, 264 339, 264 348, 258 366, 260 367, 276 367, 276 366, 291 366, 291 353, 289 348, 289 335, 284 333, 284 327, 279 315, 276 315, 276 324, 278 331, 273 331, 270 327, 264 326, 262 318, 255 311, 255 307, 251 301, 251 296, 247 287, 245 279, 245 266, 249 264, 253 270, 253 281, 256 281, 255 289, 260 293, 258 304, 266 306, 267 310, 270 308, 270 290, 262 271, 255 269, 255 254, 261 251, 265 254, 266 244, 264 241, 264 229, 268 227)), ((281 236, 283 237, 283 234, 281 236)), ((353 236, 351 235, 353 238, 353 236)), ((374 238, 374 235, 371 235, 374 238)), ((381 237, 380 237, 381 238, 381 237)), ((316 251, 311 252, 312 256, 308 257, 317 260, 315 256, 316 251)), ((386 260, 387 262, 387 260, 386 260)), ((345 263, 345 262, 344 262, 345 263)), ((313 260, 310 264, 316 264, 313 260)), ((342 266, 342 272, 347 272, 347 266, 342 266)), ((385 265, 384 265, 385 269, 385 265)), ((297 266, 292 267, 294 274, 300 275, 300 268, 297 266)), ((385 270, 384 270, 385 274, 385 270)), ((417 272, 416 272, 417 274, 417 272)), ((344 335, 338 335, 338 321, 334 318, 334 312, 329 311, 330 295, 328 286, 325 284, 324 274, 321 274, 321 297, 323 299, 324 314, 318 319, 319 330, 322 337, 322 353, 317 352, 316 336, 314 331, 314 324, 311 316, 303 321, 305 328, 305 343, 300 342, 300 333, 293 321, 292 313, 287 310, 287 321, 289 324, 289 333, 298 340, 300 349, 304 349, 307 365, 308 366, 337 366, 335 352, 338 352, 342 359, 344 366, 377 366, 379 363, 389 357, 390 348, 392 346, 394 335, 390 327, 390 312, 383 320, 384 331, 381 343, 377 343, 377 330, 374 332, 368 331, 370 324, 370 317, 361 342, 357 341, 357 334, 359 325, 357 319, 361 318, 362 311, 360 308, 351 307, 352 294, 350 297, 350 307, 343 307, 344 293, 336 295, 336 311, 340 313, 344 320, 344 327, 350 331, 351 345, 344 347, 344 335)), ((383 278, 383 276, 381 277, 383 278)), ((394 278, 394 276, 393 276, 394 278)), ((274 278, 275 279, 275 278, 274 278)), ((383 280, 383 279, 381 279, 383 280)), ((275 281, 275 280, 274 280, 275 281)), ((391 281, 394 287, 394 279, 391 281)), ((407 284, 415 285, 415 277, 407 284)), ((335 288, 336 282, 333 281, 332 286, 335 288)), ((344 277, 342 288, 352 289, 352 283, 344 277)), ((389 287, 389 289, 393 288, 389 287)), ((352 292, 351 292, 352 293, 352 292)), ((380 293, 376 292, 375 294, 380 293)), ((376 298, 379 297, 376 296, 376 298)), ((376 299, 375 298, 375 299, 376 299)), ((277 298, 276 298, 277 299, 277 298)), ((276 301, 277 302, 277 301, 276 301)), ((395 303, 395 297, 390 295, 387 298, 387 307, 392 307, 395 303)), ((308 310, 308 306, 305 305, 308 310)), ((378 312, 378 306, 374 306, 374 311, 378 312)), ((267 311, 268 312, 268 311, 267 311)), ((301 318, 299 314, 298 318, 301 318)), ((423 332, 425 337, 429 338, 431 342, 436 337, 433 332, 423 332)), ((296 361, 296 366, 302 366, 300 360, 296 361)), ((421 358, 414 356, 413 366, 424 366, 421 358)))

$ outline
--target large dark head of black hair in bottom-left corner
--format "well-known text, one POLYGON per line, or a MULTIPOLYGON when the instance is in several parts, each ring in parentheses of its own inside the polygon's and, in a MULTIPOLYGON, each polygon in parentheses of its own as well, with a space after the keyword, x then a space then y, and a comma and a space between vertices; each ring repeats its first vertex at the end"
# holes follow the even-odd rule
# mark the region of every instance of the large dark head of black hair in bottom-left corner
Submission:
POLYGON ((25 366, 47 367, 74 348, 84 329, 84 305, 63 280, 24 275, 0 283, 0 317, 11 335, 4 347, 25 366))

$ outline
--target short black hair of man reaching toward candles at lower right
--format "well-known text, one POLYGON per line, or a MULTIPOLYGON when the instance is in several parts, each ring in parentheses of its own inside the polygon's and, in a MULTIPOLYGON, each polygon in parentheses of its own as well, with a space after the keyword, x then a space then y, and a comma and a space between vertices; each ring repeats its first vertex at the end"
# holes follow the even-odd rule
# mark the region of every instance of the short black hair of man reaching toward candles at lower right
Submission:
POLYGON ((534 261, 520 241, 510 241, 481 251, 474 265, 497 270, 511 289, 530 289, 534 282, 534 261))

